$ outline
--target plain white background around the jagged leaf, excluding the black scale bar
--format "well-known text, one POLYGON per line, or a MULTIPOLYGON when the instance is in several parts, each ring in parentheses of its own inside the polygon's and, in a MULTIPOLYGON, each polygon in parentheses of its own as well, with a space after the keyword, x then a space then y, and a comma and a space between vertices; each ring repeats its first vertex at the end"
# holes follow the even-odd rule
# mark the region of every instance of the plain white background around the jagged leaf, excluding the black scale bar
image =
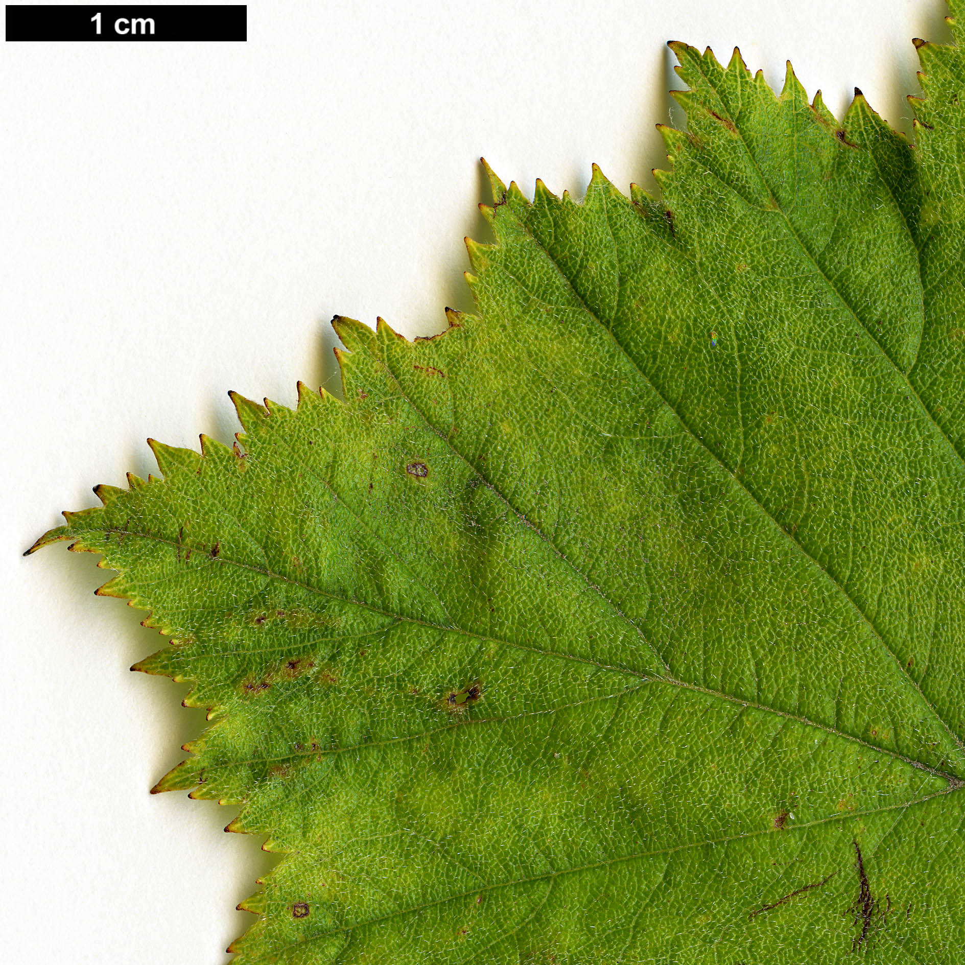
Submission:
MULTIPOLYGON (((911 38, 941 0, 254 3, 247 43, 0 48, 0 934, 11 962, 224 962, 270 867, 234 812, 148 789, 203 726, 127 667, 161 646, 63 545, 20 553, 147 475, 144 438, 231 441, 228 389, 333 387, 328 319, 405 334, 469 308, 478 157, 532 193, 591 162, 653 187, 664 41, 790 58, 910 131, 911 38)), ((676 110, 676 108, 675 108, 676 110)), ((675 120, 678 120, 675 115, 675 120)))

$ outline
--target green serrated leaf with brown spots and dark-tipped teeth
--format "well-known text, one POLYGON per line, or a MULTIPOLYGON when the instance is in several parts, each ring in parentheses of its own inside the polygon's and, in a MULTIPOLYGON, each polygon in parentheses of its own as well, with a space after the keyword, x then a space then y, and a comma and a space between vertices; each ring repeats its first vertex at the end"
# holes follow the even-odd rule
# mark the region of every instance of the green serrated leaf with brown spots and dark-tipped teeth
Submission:
POLYGON ((37 543, 210 708, 155 789, 284 853, 240 963, 958 959, 965 54, 912 148, 672 46, 661 200, 492 176, 477 315, 335 319, 345 401, 37 543))

